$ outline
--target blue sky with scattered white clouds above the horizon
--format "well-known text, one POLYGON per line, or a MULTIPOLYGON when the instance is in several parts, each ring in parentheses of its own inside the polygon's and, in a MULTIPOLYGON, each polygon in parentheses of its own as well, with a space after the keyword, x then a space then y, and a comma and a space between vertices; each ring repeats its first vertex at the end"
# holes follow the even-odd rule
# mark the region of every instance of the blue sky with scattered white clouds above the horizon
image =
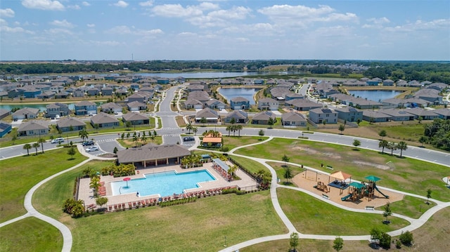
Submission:
POLYGON ((0 60, 450 60, 450 1, 2 0, 0 60))

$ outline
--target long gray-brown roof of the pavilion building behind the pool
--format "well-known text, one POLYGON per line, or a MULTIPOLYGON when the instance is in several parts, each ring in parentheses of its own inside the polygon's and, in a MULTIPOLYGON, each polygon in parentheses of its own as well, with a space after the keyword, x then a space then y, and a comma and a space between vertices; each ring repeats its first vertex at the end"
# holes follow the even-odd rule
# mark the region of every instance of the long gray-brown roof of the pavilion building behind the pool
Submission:
POLYGON ((191 152, 182 145, 159 145, 129 148, 117 152, 119 163, 131 163, 155 159, 167 159, 173 157, 185 157, 191 152))

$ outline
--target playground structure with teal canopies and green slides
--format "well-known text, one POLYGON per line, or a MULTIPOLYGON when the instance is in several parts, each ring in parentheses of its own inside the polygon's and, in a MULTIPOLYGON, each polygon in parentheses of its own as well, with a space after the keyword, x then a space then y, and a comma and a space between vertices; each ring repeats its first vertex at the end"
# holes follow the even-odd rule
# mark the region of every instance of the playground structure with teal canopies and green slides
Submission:
POLYGON ((341 200, 346 201, 347 199, 350 199, 352 201, 357 201, 363 197, 367 197, 368 201, 371 201, 373 199, 373 195, 375 194, 375 190, 377 190, 386 199, 389 199, 389 196, 383 194, 383 192, 381 192, 376 185, 376 182, 378 180, 381 180, 380 178, 375 177, 374 175, 370 175, 367 176, 366 179, 368 180, 368 182, 350 183, 349 194, 347 194, 345 197, 342 197, 341 200))

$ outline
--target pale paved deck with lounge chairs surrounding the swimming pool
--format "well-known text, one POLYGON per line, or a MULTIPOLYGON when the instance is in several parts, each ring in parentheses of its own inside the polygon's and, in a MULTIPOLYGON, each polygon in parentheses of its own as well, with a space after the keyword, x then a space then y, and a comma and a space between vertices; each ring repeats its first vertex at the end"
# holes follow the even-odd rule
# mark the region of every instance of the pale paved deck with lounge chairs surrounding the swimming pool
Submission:
MULTIPOLYGON (((134 178, 143 178, 143 175, 146 173, 158 173, 162 171, 176 171, 178 173, 184 173, 188 171, 197 171, 197 170, 203 170, 206 169, 211 173, 211 175, 214 176, 217 180, 210 181, 210 182, 203 182, 199 183, 200 187, 193 188, 186 190, 186 193, 194 193, 194 192, 203 192, 207 190, 212 190, 216 188, 221 187, 240 187, 242 189, 248 187, 252 187, 253 189, 256 189, 257 183, 255 180, 253 180, 249 175, 238 169, 236 171, 236 175, 240 178, 240 180, 233 180, 229 182, 225 178, 223 178, 217 171, 212 168, 214 163, 205 163, 203 166, 195 167, 195 168, 181 168, 179 165, 173 165, 173 166, 159 166, 159 167, 152 167, 152 168, 138 168, 136 169, 136 175, 129 175, 126 177, 129 177, 131 179, 134 178)), ((226 164, 231 166, 232 164, 229 163, 229 161, 226 161, 226 164)), ((117 177, 114 178, 112 175, 101 175, 100 181, 105 183, 105 189, 106 194, 103 197, 108 198, 108 204, 103 206, 103 208, 108 208, 108 206, 113 206, 115 204, 127 204, 128 202, 134 202, 134 201, 142 201, 146 199, 158 199, 158 195, 148 195, 143 197, 137 197, 136 193, 130 193, 130 194, 122 194, 122 195, 113 195, 113 190, 111 189, 111 183, 115 181, 122 181, 125 177, 117 177)), ((78 199, 82 199, 84 201, 85 206, 94 206, 93 209, 97 208, 96 205, 96 199, 94 198, 94 190, 89 188, 89 183, 91 182, 90 178, 82 178, 79 181, 79 192, 78 192, 78 199)), ((161 197, 168 197, 171 195, 161 195, 161 197)))

